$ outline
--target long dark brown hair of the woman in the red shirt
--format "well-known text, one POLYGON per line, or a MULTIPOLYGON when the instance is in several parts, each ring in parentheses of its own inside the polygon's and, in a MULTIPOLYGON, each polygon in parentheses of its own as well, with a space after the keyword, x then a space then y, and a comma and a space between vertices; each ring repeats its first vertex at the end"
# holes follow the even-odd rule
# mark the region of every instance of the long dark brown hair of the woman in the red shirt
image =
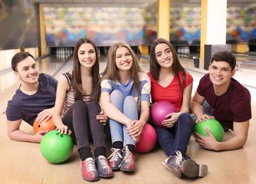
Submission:
POLYGON ((173 55, 173 64, 172 64, 172 68, 173 68, 173 71, 175 73, 175 75, 178 77, 178 83, 180 84, 180 87, 181 87, 181 91, 183 91, 185 89, 185 81, 186 81, 186 71, 185 71, 185 68, 182 67, 180 61, 178 60, 178 55, 175 51, 175 48, 172 46, 172 44, 165 40, 164 38, 158 38, 158 40, 156 41, 153 41, 151 43, 151 48, 150 48, 150 73, 153 77, 153 79, 155 81, 158 81, 158 77, 159 77, 159 70, 160 70, 160 65, 158 64, 158 61, 155 57, 155 47, 158 45, 158 44, 167 44, 169 46, 169 48, 171 49, 171 53, 173 55), (178 75, 178 72, 179 71, 182 71, 183 72, 183 81, 182 81, 182 85, 181 85, 181 79, 178 75))

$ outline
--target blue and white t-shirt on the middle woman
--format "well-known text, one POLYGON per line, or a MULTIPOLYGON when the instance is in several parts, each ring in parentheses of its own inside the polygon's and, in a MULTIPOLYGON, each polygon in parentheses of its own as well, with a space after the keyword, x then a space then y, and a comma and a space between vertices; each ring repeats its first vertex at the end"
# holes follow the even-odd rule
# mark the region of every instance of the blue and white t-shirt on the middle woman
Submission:
MULTIPOLYGON (((150 101, 150 90, 151 90, 151 81, 148 77, 148 74, 143 72, 138 73, 138 78, 140 81, 140 99, 141 101, 150 101)), ((110 81, 103 80, 101 81, 101 93, 108 92, 111 94, 113 90, 120 90, 124 97, 133 96, 135 100, 138 100, 138 93, 135 90, 135 85, 131 79, 128 84, 123 84, 121 80, 110 81)))

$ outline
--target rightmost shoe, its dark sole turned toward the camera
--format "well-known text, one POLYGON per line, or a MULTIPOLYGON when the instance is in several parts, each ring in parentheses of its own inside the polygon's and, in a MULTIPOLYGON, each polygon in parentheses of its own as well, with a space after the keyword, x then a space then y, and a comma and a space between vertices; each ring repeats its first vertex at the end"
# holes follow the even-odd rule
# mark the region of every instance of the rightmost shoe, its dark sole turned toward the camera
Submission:
POLYGON ((182 163, 182 170, 185 176, 189 178, 204 177, 208 174, 208 166, 196 163, 192 159, 185 160, 182 163))

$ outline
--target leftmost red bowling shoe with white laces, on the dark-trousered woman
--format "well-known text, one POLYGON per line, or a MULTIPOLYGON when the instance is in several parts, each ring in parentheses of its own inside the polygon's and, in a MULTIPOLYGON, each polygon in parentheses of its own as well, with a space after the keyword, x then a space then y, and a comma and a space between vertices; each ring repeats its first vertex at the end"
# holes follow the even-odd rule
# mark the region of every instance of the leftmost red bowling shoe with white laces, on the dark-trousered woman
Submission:
POLYGON ((97 181, 99 179, 98 172, 95 167, 95 160, 91 157, 81 161, 81 176, 89 182, 97 181))

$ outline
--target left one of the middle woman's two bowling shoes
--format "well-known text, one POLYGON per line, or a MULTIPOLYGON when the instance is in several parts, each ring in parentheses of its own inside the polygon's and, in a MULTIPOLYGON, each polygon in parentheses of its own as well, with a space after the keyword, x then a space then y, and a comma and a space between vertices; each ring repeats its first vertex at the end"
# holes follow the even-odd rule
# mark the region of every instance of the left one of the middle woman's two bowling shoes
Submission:
POLYGON ((108 156, 108 164, 111 167, 111 169, 116 170, 120 169, 122 156, 121 156, 121 149, 115 149, 111 148, 111 155, 108 156))

